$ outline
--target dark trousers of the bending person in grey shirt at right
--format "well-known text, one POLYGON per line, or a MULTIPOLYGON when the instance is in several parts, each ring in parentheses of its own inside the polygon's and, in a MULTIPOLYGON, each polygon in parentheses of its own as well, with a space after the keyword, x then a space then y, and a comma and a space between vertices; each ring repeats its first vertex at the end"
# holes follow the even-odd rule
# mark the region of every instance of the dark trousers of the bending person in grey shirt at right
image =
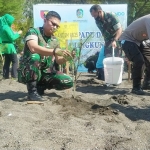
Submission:
POLYGON ((150 51, 145 50, 142 45, 139 47, 137 44, 129 41, 125 41, 125 43, 122 44, 122 48, 126 57, 133 62, 133 88, 138 88, 141 86, 141 79, 144 76, 144 71, 146 70, 148 74, 150 72, 150 51))

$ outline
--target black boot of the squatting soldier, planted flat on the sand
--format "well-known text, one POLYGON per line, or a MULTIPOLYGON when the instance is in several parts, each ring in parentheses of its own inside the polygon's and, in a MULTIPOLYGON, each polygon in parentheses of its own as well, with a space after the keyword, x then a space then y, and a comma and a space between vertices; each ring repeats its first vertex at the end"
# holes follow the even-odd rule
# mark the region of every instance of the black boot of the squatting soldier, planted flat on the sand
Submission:
POLYGON ((27 83, 28 99, 30 101, 42 101, 44 100, 37 92, 37 83, 32 81, 27 83))

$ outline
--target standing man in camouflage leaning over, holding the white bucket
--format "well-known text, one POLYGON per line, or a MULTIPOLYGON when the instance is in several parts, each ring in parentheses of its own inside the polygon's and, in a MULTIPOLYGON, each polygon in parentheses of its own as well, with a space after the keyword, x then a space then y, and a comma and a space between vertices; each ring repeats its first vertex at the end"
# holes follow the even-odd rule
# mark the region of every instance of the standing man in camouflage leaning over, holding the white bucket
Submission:
POLYGON ((121 47, 118 39, 122 33, 121 23, 114 13, 105 12, 101 6, 93 5, 90 8, 91 16, 94 17, 97 27, 102 33, 105 41, 104 54, 112 56, 112 47, 115 48, 115 55, 121 55, 121 47))

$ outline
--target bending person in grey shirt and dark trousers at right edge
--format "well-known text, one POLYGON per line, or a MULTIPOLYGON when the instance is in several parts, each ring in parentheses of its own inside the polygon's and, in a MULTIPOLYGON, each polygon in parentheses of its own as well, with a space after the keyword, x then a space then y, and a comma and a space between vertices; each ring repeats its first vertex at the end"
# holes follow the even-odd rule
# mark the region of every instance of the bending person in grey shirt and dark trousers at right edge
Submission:
MULTIPOLYGON (((145 82, 150 80, 150 52, 142 46, 142 42, 150 39, 150 15, 143 16, 132 22, 123 32, 120 37, 123 51, 126 57, 133 62, 132 79, 133 88, 132 93, 143 95, 145 92, 141 88, 141 79, 143 78, 145 68, 145 58, 147 58, 145 72, 145 82)), ((146 84, 146 83, 145 83, 146 84)))

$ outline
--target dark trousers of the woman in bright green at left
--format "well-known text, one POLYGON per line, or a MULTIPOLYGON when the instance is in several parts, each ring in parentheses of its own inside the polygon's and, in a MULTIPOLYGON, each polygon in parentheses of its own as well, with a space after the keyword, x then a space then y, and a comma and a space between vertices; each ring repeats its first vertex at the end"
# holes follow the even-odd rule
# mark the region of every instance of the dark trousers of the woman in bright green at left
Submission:
POLYGON ((17 78, 18 58, 17 54, 4 54, 5 62, 3 66, 3 77, 9 78, 10 63, 12 62, 11 77, 17 78))

